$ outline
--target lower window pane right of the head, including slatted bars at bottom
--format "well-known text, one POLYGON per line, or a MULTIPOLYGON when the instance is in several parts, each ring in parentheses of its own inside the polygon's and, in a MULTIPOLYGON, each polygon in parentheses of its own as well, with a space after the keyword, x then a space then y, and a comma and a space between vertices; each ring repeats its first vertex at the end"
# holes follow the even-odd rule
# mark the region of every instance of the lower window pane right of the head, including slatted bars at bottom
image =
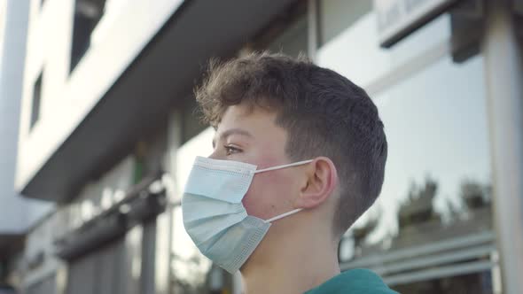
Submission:
POLYGON ((344 269, 371 267, 402 293, 491 292, 482 65, 481 57, 443 58, 375 97, 389 144, 386 179, 340 244, 344 269))

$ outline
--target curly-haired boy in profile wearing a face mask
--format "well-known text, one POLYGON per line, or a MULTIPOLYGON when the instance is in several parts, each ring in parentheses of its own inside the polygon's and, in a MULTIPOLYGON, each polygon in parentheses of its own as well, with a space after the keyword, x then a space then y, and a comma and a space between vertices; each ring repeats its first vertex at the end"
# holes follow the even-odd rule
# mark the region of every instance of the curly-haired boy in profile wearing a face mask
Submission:
POLYGON ((395 293, 340 274, 340 237, 376 200, 386 136, 365 91, 303 58, 256 53, 214 64, 196 98, 216 129, 196 159, 183 223, 247 294, 395 293))

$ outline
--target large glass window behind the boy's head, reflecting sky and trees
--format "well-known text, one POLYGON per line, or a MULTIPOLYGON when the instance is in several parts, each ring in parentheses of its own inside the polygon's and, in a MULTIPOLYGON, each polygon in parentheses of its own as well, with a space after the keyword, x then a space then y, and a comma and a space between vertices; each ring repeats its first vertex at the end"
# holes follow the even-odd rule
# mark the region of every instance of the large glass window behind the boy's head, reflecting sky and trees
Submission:
POLYGON ((497 253, 482 56, 452 61, 446 14, 384 50, 374 12, 347 17, 343 28, 329 18, 339 9, 331 11, 318 63, 368 91, 388 142, 381 195, 344 236, 341 269, 371 268, 402 293, 491 293, 497 253))

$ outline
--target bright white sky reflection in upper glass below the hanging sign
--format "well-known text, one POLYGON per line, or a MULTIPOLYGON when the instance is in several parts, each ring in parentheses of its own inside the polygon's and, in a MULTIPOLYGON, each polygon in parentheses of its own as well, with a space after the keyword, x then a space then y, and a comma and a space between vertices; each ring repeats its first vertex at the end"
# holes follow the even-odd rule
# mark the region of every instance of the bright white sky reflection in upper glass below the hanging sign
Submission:
POLYGON ((407 64, 411 58, 449 40, 448 15, 434 19, 391 49, 379 47, 377 23, 374 12, 357 18, 351 27, 318 50, 319 65, 368 87, 376 79, 407 64))

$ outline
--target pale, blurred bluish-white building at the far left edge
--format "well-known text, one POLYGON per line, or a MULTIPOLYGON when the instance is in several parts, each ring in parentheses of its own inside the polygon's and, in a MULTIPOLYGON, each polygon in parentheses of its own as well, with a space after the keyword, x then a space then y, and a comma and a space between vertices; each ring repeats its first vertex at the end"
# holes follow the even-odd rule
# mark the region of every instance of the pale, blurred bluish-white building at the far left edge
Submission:
POLYGON ((27 7, 23 1, 0 1, 0 292, 20 283, 18 268, 27 231, 52 207, 41 200, 20 197, 13 186, 26 53, 27 7))

